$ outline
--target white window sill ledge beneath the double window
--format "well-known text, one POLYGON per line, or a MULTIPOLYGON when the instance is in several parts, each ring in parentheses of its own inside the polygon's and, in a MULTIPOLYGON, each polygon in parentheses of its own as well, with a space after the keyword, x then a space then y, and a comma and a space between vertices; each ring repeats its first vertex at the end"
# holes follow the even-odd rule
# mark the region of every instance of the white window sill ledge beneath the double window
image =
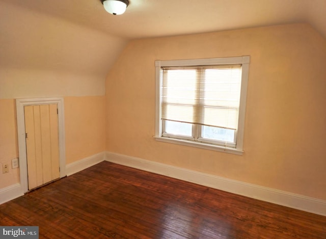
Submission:
POLYGON ((229 148, 219 145, 212 145, 212 144, 206 144, 202 142, 193 142, 188 140, 180 140, 180 139, 173 139, 173 138, 166 138, 166 137, 154 137, 156 141, 165 142, 165 143, 171 143, 171 144, 179 144, 184 146, 191 146, 196 148, 202 148, 202 149, 208 149, 208 150, 214 150, 214 151, 220 151, 225 153, 233 153, 237 155, 242 155, 243 150, 238 150, 236 148, 229 148))

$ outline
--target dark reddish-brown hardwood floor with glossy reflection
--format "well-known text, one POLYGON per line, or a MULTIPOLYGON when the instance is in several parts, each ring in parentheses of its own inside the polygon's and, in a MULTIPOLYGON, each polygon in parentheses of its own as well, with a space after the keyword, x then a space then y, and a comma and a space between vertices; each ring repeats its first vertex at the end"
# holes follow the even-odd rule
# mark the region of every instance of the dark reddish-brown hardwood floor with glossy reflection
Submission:
POLYGON ((40 238, 326 238, 326 217, 102 162, 0 205, 40 238))

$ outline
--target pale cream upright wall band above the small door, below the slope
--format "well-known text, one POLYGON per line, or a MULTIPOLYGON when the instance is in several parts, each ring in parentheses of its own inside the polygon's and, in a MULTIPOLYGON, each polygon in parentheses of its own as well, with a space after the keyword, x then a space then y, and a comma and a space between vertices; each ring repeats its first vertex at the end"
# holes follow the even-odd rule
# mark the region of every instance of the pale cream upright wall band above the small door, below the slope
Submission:
POLYGON ((105 95, 104 78, 62 71, 0 68, 0 98, 105 95))

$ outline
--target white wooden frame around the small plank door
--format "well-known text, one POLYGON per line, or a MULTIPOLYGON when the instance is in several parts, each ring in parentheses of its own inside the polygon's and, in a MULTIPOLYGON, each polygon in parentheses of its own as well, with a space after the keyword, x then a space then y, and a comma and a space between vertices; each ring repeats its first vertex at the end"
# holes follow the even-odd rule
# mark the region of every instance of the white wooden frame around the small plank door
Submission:
POLYGON ((16 99, 19 171, 20 171, 20 185, 23 191, 22 193, 26 193, 29 191, 26 140, 25 140, 24 107, 26 105, 41 105, 41 104, 58 104, 60 178, 66 176, 65 116, 64 116, 63 97, 16 99))

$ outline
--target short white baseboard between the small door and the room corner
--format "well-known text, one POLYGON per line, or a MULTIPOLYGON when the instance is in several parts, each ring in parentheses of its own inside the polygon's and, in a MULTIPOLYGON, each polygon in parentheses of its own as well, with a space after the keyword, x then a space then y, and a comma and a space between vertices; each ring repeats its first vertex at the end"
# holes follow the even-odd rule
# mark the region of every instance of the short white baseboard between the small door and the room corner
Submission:
POLYGON ((71 164, 66 165, 66 174, 70 176, 74 173, 87 169, 93 165, 96 165, 102 161, 104 161, 105 152, 97 153, 92 156, 83 158, 82 160, 78 160, 71 164))

